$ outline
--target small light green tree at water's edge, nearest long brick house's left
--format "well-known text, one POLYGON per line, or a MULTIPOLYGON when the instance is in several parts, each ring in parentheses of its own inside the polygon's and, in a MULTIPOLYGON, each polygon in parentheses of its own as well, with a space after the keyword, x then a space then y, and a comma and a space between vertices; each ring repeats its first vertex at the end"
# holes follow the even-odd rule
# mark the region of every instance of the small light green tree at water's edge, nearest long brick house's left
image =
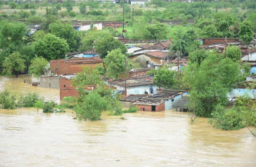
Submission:
POLYGON ((40 77, 42 74, 42 71, 45 71, 45 68, 48 64, 48 61, 40 57, 35 57, 31 60, 31 65, 29 66, 29 74, 34 74, 36 77, 40 77))

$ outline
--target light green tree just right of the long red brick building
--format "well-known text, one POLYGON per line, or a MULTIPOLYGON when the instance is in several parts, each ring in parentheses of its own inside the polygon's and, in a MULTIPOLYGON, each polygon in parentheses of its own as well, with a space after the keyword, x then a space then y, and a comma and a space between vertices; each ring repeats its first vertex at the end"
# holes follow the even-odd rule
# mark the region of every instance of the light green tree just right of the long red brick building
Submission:
POLYGON ((120 74, 125 71, 125 59, 126 57, 121 52, 121 49, 114 49, 111 52, 108 51, 108 55, 104 59, 107 76, 110 78, 118 79, 120 77, 120 74))

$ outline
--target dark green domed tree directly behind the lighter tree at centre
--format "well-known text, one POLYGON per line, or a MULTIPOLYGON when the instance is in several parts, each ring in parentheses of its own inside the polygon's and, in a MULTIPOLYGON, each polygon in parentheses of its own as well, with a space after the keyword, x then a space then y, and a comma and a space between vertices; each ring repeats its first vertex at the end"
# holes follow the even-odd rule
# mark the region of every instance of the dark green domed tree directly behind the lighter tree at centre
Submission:
POLYGON ((120 42, 118 39, 115 39, 114 37, 111 37, 111 36, 103 38, 95 44, 95 49, 99 53, 101 59, 107 56, 108 51, 118 49, 118 48, 123 54, 127 52, 126 46, 122 44, 122 42, 120 42))

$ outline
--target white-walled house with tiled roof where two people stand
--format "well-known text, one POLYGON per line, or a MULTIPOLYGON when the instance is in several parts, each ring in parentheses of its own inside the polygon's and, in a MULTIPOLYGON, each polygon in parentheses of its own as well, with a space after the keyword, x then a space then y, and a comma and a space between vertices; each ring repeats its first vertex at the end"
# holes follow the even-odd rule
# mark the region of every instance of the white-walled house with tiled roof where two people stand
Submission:
MULTIPOLYGON (((116 87, 119 91, 125 90, 124 79, 119 80, 105 80, 108 86, 116 87)), ((157 86, 153 82, 153 76, 142 75, 139 77, 132 77, 126 79, 126 91, 127 95, 131 94, 144 94, 147 92, 150 94, 150 86, 153 87, 153 94, 157 92, 157 86)))

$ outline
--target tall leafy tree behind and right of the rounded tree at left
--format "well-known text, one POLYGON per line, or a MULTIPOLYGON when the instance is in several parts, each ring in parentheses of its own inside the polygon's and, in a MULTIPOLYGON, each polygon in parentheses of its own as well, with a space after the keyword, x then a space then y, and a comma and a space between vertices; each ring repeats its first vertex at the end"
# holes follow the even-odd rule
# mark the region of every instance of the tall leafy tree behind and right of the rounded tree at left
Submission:
POLYGON ((71 24, 56 21, 49 25, 49 30, 56 37, 66 39, 71 52, 77 51, 82 35, 79 31, 74 31, 71 24))

